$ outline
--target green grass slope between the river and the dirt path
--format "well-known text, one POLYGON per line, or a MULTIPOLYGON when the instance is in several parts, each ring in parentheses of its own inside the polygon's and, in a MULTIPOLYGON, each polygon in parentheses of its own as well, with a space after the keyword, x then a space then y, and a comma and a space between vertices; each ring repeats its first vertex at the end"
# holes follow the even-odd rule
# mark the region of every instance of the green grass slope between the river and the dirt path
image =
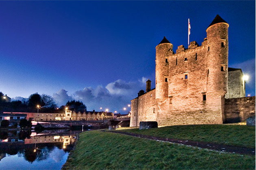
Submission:
POLYGON ((83 132, 65 169, 254 169, 255 156, 220 153, 123 134, 83 132))

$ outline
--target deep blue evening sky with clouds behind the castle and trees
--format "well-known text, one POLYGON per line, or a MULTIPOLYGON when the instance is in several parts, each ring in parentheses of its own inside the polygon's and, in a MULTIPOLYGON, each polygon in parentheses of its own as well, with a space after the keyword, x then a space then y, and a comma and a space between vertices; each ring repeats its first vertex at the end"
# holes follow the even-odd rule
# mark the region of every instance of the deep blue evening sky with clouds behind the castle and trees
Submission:
POLYGON ((154 88, 163 36, 187 48, 189 18, 201 45, 217 14, 229 23, 229 67, 255 96, 255 1, 0 1, 0 91, 126 113, 145 81, 154 88))

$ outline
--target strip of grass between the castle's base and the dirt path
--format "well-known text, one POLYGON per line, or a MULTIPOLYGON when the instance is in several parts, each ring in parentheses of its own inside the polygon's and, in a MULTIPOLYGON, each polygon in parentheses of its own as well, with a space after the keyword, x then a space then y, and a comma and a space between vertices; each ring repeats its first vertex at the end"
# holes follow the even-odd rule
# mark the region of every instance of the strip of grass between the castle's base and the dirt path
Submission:
POLYGON ((255 127, 252 126, 179 125, 146 130, 133 128, 121 131, 163 138, 214 142, 232 146, 255 148, 255 127))

